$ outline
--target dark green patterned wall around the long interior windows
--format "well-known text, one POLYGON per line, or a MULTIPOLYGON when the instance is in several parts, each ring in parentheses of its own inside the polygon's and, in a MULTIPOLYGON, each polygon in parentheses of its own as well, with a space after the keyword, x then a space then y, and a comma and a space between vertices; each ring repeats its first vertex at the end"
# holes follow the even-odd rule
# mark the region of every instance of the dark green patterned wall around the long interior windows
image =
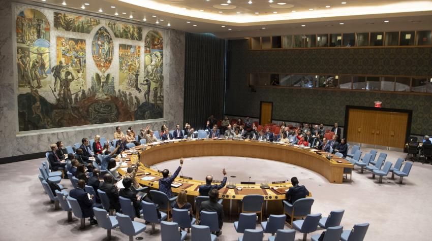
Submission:
POLYGON ((331 124, 345 121, 345 106, 413 110, 412 134, 432 134, 432 95, 248 87, 248 73, 322 73, 432 76, 432 48, 293 49, 250 51, 229 41, 225 113, 258 117, 260 101, 273 102, 273 119, 331 124))

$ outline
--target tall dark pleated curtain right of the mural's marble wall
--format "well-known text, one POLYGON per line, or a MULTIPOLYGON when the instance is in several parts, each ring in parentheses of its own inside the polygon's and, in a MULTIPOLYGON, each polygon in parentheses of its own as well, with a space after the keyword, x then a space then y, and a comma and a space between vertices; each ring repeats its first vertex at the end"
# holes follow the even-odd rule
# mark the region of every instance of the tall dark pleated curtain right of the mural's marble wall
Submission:
POLYGON ((186 33, 184 123, 202 129, 210 114, 222 119, 225 99, 226 40, 211 33, 186 33))

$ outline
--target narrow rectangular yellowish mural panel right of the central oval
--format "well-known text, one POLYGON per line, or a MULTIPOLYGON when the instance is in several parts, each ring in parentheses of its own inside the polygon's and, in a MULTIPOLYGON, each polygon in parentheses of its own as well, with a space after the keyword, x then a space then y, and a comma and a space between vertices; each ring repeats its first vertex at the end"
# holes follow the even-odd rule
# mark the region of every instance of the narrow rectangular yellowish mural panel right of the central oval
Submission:
POLYGON ((140 46, 120 44, 118 46, 119 87, 123 90, 137 90, 140 74, 140 46))

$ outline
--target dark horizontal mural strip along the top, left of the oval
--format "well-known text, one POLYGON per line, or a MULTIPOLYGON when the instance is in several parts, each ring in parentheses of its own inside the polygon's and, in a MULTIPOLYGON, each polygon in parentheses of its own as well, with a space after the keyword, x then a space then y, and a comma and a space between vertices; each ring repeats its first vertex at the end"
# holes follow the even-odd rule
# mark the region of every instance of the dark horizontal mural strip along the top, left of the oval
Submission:
POLYGON ((54 29, 90 33, 94 26, 101 24, 97 18, 88 18, 69 13, 54 12, 54 29))

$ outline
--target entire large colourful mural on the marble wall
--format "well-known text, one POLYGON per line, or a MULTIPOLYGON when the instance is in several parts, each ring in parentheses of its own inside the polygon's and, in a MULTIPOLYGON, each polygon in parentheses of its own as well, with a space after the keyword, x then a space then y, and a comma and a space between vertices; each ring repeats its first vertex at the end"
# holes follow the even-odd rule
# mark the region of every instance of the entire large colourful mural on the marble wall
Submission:
POLYGON ((19 131, 163 118, 160 32, 149 31, 146 44, 136 41, 143 38, 141 27, 53 13, 54 29, 84 33, 79 39, 65 37, 50 32, 42 12, 16 12, 19 131), (95 35, 89 35, 99 24, 95 35), (55 40, 52 52, 50 34, 55 40), (145 63, 140 60, 143 48, 145 63))

